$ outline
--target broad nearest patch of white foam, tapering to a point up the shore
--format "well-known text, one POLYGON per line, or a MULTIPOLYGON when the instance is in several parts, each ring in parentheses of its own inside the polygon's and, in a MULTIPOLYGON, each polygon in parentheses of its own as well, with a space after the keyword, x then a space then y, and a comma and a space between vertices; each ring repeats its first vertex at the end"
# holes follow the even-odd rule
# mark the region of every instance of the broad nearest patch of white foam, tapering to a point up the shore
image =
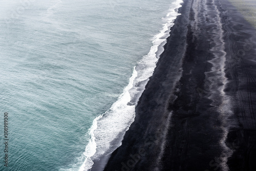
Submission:
MULTIPOLYGON (((111 141, 119 133, 125 132, 134 121, 135 106, 129 106, 127 103, 131 100, 129 90, 133 87, 133 81, 136 76, 137 71, 134 68, 129 84, 125 87, 118 100, 111 106, 110 110, 94 119, 89 133, 91 140, 86 147, 86 151, 83 153, 86 159, 79 168, 79 171, 89 170, 93 165, 92 159, 108 152, 111 149, 111 141), (93 155, 94 157, 92 158, 93 155)), ((118 146, 120 145, 121 141, 118 146)))

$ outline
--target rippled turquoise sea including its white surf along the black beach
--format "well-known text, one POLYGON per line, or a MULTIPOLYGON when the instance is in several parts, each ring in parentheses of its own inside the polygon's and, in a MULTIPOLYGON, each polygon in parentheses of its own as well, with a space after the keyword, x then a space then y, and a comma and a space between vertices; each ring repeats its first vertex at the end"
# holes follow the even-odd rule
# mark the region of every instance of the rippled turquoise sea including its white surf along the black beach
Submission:
POLYGON ((86 170, 120 145, 174 2, 1 1, 1 170, 86 170))

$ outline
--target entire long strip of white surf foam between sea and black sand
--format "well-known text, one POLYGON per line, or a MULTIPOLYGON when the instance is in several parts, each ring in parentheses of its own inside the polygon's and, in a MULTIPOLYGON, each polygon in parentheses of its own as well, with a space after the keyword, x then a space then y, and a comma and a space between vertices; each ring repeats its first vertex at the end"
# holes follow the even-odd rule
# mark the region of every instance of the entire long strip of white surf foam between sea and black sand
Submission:
POLYGON ((148 78, 153 75, 156 62, 159 58, 158 51, 163 51, 164 42, 169 36, 168 30, 172 27, 174 19, 179 15, 176 10, 181 7, 183 1, 178 0, 172 3, 172 8, 166 17, 162 18, 166 22, 160 33, 155 35, 153 46, 147 55, 134 68, 129 84, 124 88, 118 100, 111 106, 110 110, 100 115, 93 121, 90 129, 91 140, 83 153, 84 162, 79 171, 90 170, 93 160, 111 154, 121 145, 123 135, 129 129, 135 118, 135 106, 138 98, 145 89, 148 78), (129 103, 132 101, 132 103, 129 103))

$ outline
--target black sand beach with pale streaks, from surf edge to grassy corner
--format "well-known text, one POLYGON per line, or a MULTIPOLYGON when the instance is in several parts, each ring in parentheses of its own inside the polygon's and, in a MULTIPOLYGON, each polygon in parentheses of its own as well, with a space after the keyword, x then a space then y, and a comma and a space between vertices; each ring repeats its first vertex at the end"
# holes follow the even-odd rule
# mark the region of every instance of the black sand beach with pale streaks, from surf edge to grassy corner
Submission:
POLYGON ((179 13, 104 170, 255 171, 256 30, 226 0, 179 13))

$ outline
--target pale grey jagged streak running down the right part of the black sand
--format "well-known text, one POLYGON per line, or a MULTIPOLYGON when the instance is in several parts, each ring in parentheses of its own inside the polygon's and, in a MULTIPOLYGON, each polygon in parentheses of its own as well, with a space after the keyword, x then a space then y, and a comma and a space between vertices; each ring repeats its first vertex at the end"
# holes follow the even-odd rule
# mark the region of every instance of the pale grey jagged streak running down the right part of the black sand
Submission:
POLYGON ((210 48, 210 52, 214 55, 214 58, 209 60, 211 63, 211 71, 206 72, 206 80, 209 80, 209 92, 211 94, 209 98, 212 100, 211 105, 215 106, 217 111, 219 112, 219 120, 221 120, 222 124, 220 126, 223 134, 219 141, 219 144, 222 148, 222 153, 219 156, 220 166, 222 170, 229 170, 227 165, 228 158, 232 155, 233 151, 226 144, 228 131, 230 125, 228 124, 228 117, 233 115, 230 106, 230 99, 228 95, 225 93, 226 84, 228 82, 227 77, 225 76, 225 63, 226 63, 226 52, 225 52, 225 41, 224 41, 224 30, 222 28, 221 23, 221 12, 218 9, 216 1, 212 1, 208 6, 204 9, 207 9, 210 14, 214 15, 214 17, 208 17, 210 22, 216 26, 214 30, 212 30, 212 40, 215 45, 210 48), (210 6, 209 6, 210 5, 210 6), (214 76, 212 76, 214 75, 214 76), (218 91, 216 91, 218 90, 218 91), (217 98, 215 96, 217 96, 217 98), (221 101, 221 104, 219 104, 221 101))

